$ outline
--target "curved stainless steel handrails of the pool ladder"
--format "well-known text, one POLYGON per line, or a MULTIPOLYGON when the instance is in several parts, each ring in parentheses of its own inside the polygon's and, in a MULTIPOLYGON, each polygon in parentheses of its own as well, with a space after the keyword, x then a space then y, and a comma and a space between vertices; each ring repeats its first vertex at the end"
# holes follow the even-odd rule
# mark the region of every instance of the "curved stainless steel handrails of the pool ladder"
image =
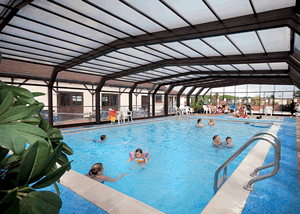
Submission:
POLYGON ((278 137, 276 135, 274 135, 271 132, 258 132, 256 133, 253 137, 251 137, 241 148, 239 148, 233 155, 231 155, 230 158, 228 158, 225 163, 220 166, 215 173, 215 180, 214 180, 214 190, 215 193, 218 191, 218 189, 221 187, 221 185, 225 182, 225 180, 227 179, 227 165, 233 161, 241 152, 243 152, 250 144, 252 144, 254 141, 257 140, 264 140, 269 142, 275 150, 275 161, 273 163, 264 165, 264 166, 260 166, 257 167, 251 174, 252 178, 245 186, 244 189, 252 191, 253 187, 252 184, 254 184, 256 181, 260 181, 260 180, 264 180, 266 178, 272 177, 274 175, 277 174, 277 172, 279 171, 279 161, 280 161, 280 157, 281 157, 281 143, 280 140, 278 139, 278 137), (270 138, 267 137, 263 137, 260 135, 270 135, 271 137, 274 138, 274 140, 276 141, 276 143, 274 143, 274 141, 272 141, 270 138), (270 172, 269 174, 266 175, 262 175, 262 176, 257 176, 257 173, 262 170, 262 169, 266 169, 269 167, 275 166, 273 171, 270 172), (218 179, 219 173, 224 169, 224 174, 223 176, 218 179))

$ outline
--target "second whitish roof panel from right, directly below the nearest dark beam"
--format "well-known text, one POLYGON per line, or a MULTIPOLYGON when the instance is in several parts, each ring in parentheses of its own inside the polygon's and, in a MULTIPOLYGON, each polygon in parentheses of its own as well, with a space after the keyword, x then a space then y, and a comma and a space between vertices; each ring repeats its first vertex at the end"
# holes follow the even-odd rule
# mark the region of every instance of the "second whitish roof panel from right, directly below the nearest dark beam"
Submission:
POLYGON ((264 53, 255 32, 231 34, 228 37, 244 54, 264 53))

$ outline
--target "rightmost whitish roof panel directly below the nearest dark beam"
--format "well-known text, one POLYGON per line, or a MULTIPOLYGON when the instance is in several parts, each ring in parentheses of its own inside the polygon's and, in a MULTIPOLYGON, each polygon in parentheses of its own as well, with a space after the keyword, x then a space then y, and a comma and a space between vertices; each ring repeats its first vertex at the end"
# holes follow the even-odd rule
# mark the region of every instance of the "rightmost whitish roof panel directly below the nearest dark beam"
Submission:
POLYGON ((290 50, 291 30, 288 27, 260 30, 257 32, 267 52, 290 50))

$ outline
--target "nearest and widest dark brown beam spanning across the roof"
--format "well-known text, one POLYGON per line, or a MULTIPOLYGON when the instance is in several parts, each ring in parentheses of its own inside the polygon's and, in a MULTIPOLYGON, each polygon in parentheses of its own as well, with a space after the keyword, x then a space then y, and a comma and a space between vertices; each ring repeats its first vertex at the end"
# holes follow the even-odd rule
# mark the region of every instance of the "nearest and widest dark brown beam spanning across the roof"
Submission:
POLYGON ((222 23, 220 23, 219 21, 213 21, 209 23, 194 25, 193 27, 187 26, 151 34, 145 33, 135 37, 117 39, 99 48, 91 50, 88 53, 82 54, 78 57, 74 57, 71 60, 61 63, 60 67, 63 68, 59 69, 63 70, 71 68, 83 62, 87 62, 91 59, 95 59, 122 48, 162 44, 166 42, 184 41, 189 39, 199 39, 284 26, 288 26, 295 32, 299 33, 300 27, 299 22, 297 22, 297 11, 298 10, 296 10, 295 7, 289 7, 257 13, 256 16, 251 14, 236 18, 230 18, 222 20, 222 23))

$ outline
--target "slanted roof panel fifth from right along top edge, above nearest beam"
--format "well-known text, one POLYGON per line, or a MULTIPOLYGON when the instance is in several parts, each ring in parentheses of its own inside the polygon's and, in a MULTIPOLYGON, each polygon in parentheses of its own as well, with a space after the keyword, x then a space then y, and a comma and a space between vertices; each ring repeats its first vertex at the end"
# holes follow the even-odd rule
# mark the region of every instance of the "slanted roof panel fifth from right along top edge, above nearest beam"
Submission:
POLYGON ((156 32, 164 30, 161 26, 157 25, 156 23, 150 21, 146 17, 142 16, 138 12, 134 11, 130 7, 122 4, 118 0, 92 0, 91 2, 99 5, 100 7, 108 10, 109 12, 122 17, 125 20, 149 31, 149 32, 156 32))

